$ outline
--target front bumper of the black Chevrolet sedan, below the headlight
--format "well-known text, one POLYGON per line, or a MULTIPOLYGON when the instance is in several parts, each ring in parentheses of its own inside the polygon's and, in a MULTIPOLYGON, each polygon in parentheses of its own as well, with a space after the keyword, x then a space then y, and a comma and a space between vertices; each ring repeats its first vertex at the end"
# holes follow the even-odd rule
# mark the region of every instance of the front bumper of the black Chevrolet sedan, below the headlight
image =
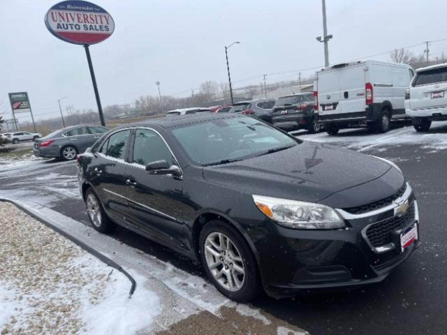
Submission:
MULTIPOLYGON (((405 221, 402 228, 417 222, 419 229, 417 201, 411 188, 405 193, 415 211, 414 218, 405 221)), ((342 230, 293 230, 275 224, 276 233, 256 243, 266 292, 280 298, 383 281, 419 247, 420 242, 415 241, 404 251, 397 243, 388 244, 383 249, 372 247, 364 235, 365 228, 394 218, 395 214, 392 210, 370 213, 372 215, 344 217, 347 228, 342 230)))

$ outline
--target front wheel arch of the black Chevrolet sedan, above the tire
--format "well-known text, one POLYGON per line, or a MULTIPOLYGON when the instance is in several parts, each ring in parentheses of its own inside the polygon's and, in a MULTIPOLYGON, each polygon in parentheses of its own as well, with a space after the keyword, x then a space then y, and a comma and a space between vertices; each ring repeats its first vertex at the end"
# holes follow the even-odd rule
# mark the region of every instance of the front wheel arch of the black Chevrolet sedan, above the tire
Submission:
POLYGON ((253 241, 244 232, 244 230, 242 229, 242 227, 240 226, 240 224, 238 222, 233 220, 227 214, 221 213, 214 209, 203 209, 202 211, 200 211, 197 214, 197 216, 194 220, 194 223, 192 226, 192 242, 193 242, 193 248, 194 248, 194 255, 197 258, 197 260, 200 260, 200 255, 199 255, 200 232, 202 231, 203 226, 205 226, 205 224, 211 220, 225 221, 225 222, 228 222, 228 224, 230 226, 235 228, 238 231, 238 233, 244 238, 245 242, 248 244, 248 246, 249 246, 250 250, 252 251, 253 256, 256 260, 257 266, 259 268, 259 264, 260 264, 259 255, 257 253, 256 247, 253 244, 253 241))

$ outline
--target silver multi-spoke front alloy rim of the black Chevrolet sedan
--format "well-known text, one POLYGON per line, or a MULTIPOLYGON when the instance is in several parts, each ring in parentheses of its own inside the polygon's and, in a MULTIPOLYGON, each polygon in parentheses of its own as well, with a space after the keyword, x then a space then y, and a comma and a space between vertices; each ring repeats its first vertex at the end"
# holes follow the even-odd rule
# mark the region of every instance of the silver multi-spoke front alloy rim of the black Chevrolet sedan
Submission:
POLYGON ((245 268, 232 240, 213 232, 207 236, 204 250, 208 269, 219 285, 231 292, 239 291, 245 282, 245 268))

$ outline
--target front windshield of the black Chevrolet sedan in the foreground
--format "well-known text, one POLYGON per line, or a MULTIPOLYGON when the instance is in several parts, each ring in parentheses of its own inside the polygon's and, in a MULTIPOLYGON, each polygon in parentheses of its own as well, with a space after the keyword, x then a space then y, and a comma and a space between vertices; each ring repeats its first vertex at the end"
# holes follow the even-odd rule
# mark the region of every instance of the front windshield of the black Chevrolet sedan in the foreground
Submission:
POLYGON ((172 133, 190 159, 198 165, 229 163, 294 147, 299 143, 295 138, 251 117, 195 123, 173 129, 172 133))

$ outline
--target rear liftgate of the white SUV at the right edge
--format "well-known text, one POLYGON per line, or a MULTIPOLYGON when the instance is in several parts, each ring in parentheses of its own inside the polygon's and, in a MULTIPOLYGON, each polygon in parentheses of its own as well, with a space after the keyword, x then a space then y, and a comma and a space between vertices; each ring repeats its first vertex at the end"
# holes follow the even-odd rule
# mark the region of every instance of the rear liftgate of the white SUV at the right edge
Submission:
POLYGON ((416 72, 411 85, 411 109, 447 106, 447 67, 416 72))

